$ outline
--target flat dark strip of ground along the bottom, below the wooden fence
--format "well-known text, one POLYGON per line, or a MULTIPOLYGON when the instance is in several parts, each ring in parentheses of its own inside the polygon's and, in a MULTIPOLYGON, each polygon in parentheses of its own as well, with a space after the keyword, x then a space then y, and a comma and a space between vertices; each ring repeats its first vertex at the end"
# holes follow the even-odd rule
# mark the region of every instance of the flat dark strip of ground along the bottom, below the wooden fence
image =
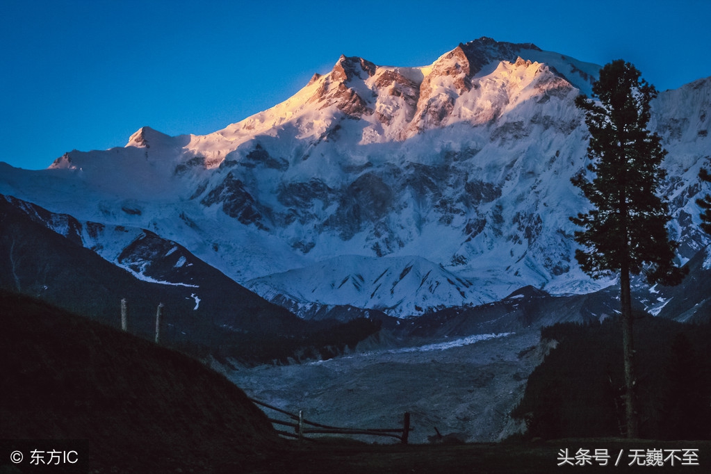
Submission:
MULTIPOLYGON (((366 445, 355 443, 289 442, 275 458, 253 466, 254 473, 586 473, 610 472, 711 472, 711 441, 648 441, 625 439, 562 439, 540 442, 474 443, 462 445, 366 445), (567 448, 573 465, 563 462, 567 448), (589 450, 589 463, 579 464, 579 450, 589 450), (696 449, 697 465, 683 465, 685 450, 696 449), (607 465, 596 450, 606 450, 607 465), (641 450, 641 451, 634 451, 641 450), (634 453, 646 463, 648 451, 661 450, 663 458, 675 454, 680 460, 662 466, 636 465, 634 453), (619 463, 615 466, 620 451, 619 463), (632 463, 633 465, 630 465, 632 463)), ((605 451, 597 451, 602 454, 605 451)))

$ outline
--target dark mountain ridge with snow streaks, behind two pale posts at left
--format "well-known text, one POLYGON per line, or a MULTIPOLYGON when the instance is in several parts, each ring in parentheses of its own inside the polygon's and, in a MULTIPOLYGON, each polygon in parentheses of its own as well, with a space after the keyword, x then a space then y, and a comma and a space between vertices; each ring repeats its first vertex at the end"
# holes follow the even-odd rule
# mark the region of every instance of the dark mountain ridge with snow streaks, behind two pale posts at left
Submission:
MULTIPOLYGON (((96 226, 87 223, 89 232, 96 226)), ((318 357, 322 350, 333 355, 378 328, 377 321, 355 321, 347 326, 350 335, 332 337, 328 330, 342 334, 342 323, 297 318, 148 230, 118 259, 128 270, 140 266, 139 279, 83 247, 81 232, 82 224, 71 216, 0 195, 0 266, 9 270, 0 274, 0 289, 42 298, 114 328, 120 327, 125 298, 129 332, 149 340, 157 306, 164 303, 162 344, 243 362, 286 362, 297 352, 318 357)))

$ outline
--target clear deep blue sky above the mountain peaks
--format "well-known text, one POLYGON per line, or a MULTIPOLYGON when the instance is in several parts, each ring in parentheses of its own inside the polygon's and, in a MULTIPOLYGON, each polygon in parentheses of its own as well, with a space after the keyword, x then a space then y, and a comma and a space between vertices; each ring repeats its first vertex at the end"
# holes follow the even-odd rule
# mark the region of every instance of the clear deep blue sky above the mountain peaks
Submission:
POLYGON ((341 54, 428 65, 481 36, 658 90, 711 75, 709 0, 1 0, 0 161, 46 168, 148 125, 208 134, 282 102, 341 54))

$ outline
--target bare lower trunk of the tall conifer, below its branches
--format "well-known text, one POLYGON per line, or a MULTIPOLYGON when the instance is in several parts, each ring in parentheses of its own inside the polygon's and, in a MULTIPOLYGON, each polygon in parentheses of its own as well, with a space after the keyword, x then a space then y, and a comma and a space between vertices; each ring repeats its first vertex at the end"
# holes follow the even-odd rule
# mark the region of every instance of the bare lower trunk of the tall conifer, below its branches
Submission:
POLYGON ((634 370, 634 338, 632 333, 632 298, 630 294, 629 267, 623 264, 620 271, 620 304, 622 311, 622 355, 624 357, 625 418, 627 437, 639 437, 637 419, 636 377, 634 370))

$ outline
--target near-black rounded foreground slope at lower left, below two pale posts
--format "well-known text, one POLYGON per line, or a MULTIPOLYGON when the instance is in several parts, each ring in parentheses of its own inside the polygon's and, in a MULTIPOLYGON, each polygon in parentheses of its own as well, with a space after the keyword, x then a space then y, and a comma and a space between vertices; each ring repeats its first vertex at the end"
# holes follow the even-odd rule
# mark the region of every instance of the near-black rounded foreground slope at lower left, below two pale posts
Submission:
POLYGON ((242 390, 189 357, 6 291, 0 323, 0 439, 83 440, 60 445, 83 472, 144 473, 240 472, 281 442, 242 390))

